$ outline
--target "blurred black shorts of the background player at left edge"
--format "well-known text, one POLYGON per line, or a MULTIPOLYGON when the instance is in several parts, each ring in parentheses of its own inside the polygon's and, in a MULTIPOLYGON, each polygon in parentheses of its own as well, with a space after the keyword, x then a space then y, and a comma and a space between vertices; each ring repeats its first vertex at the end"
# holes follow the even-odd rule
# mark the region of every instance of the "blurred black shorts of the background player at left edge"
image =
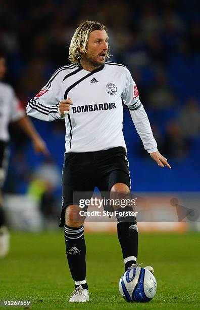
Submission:
POLYGON ((3 187, 8 169, 9 147, 8 142, 0 140, 0 188, 3 187))

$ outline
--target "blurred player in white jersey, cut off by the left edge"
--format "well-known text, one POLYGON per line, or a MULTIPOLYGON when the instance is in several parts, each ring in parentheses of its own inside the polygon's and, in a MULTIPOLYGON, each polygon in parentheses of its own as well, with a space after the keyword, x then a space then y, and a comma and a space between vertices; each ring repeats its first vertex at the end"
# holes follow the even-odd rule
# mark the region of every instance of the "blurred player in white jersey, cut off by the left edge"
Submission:
POLYGON ((9 251, 9 233, 3 210, 2 187, 6 178, 9 157, 9 123, 15 122, 30 137, 36 153, 48 155, 45 142, 35 130, 20 105, 13 88, 2 82, 7 72, 6 57, 0 51, 0 257, 9 251))

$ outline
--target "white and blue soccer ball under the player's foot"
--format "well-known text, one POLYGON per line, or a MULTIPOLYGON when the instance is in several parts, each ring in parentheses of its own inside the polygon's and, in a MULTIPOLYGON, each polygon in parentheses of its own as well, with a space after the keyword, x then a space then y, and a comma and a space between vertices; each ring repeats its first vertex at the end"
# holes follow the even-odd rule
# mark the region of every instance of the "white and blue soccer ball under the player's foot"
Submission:
POLYGON ((120 294, 128 302, 148 302, 154 298, 156 290, 154 275, 140 267, 128 269, 119 282, 120 294))

